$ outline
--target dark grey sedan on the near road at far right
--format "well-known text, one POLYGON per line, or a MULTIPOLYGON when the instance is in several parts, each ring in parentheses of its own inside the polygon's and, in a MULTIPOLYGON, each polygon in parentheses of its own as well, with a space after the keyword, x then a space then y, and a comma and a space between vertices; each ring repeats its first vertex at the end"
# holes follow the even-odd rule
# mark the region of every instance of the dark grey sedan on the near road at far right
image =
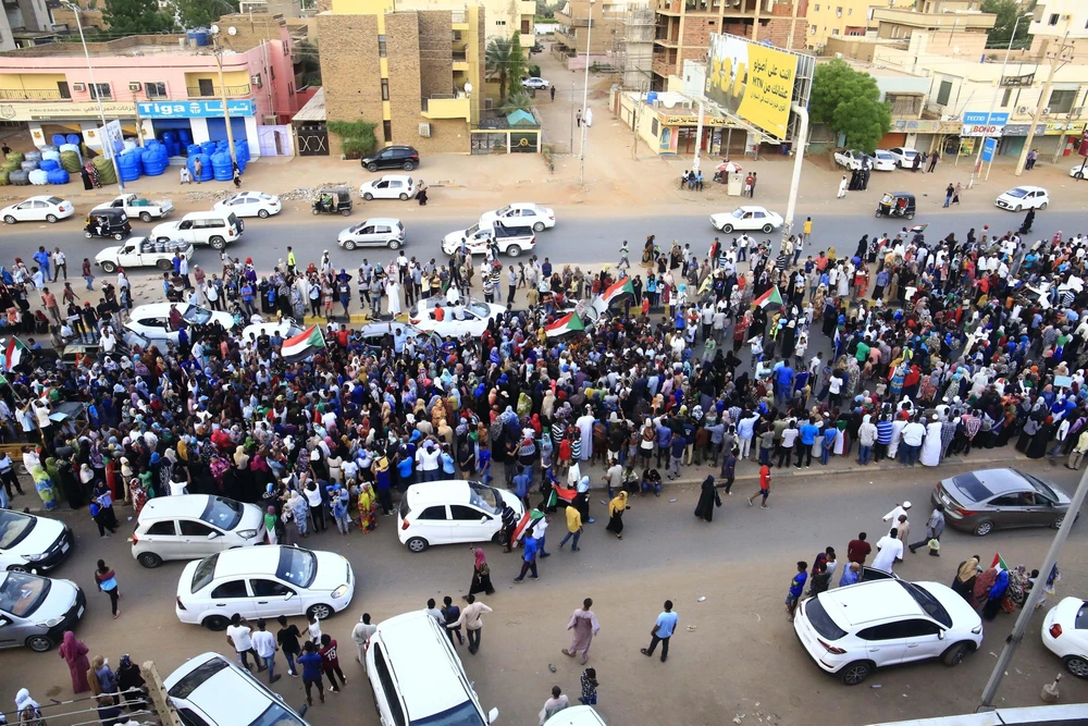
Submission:
POLYGON ((1059 528, 1070 497, 1056 485, 1016 469, 979 469, 943 480, 930 497, 950 527, 977 537, 1012 527, 1059 528))

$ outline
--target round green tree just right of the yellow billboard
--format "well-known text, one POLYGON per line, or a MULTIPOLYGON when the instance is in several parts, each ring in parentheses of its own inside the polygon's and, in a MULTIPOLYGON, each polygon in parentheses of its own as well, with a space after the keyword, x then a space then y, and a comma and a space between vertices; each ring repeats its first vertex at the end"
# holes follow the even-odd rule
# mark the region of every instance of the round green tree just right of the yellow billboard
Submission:
POLYGON ((846 146, 866 153, 891 130, 891 109, 880 101, 877 82, 841 59, 816 66, 808 114, 813 123, 845 134, 846 146))

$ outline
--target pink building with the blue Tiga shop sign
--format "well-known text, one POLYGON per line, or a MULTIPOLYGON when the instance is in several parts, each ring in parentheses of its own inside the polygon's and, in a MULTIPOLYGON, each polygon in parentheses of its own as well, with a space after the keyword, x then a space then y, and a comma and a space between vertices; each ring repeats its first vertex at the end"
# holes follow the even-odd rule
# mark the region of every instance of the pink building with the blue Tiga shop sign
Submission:
POLYGON ((246 139, 252 156, 289 153, 289 139, 274 132, 297 110, 292 48, 282 19, 223 20, 235 35, 223 36, 222 76, 212 49, 184 35, 88 42, 95 83, 79 44, 2 52, 0 119, 26 124, 39 147, 54 134, 79 134, 97 150, 100 100, 107 121, 120 120, 126 137, 143 140, 184 131, 199 144, 227 137, 225 95, 234 138, 246 139))

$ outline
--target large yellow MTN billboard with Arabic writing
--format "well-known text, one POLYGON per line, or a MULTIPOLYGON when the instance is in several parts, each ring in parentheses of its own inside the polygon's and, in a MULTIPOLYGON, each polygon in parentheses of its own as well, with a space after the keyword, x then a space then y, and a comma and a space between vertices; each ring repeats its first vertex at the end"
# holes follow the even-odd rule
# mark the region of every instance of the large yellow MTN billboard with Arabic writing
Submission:
POLYGON ((714 35, 706 97, 768 136, 786 138, 798 57, 735 35, 714 35))

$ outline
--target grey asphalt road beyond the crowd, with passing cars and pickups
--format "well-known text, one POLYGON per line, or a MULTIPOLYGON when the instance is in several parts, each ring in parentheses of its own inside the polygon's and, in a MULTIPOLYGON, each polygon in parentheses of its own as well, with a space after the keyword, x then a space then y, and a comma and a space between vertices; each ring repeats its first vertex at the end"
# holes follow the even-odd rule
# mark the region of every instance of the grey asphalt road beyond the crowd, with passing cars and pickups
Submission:
MULTIPOLYGON (((363 221, 363 213, 372 217, 376 216, 399 216, 407 230, 406 253, 417 259, 428 260, 436 258, 440 261, 445 259, 440 246, 441 239, 454 230, 465 229, 473 224, 477 218, 472 214, 450 216, 449 218, 433 218, 413 220, 411 205, 400 205, 396 201, 375 201, 367 206, 366 209, 357 208, 356 213, 350 219, 333 217, 311 217, 305 211, 295 209, 296 205, 289 204, 287 211, 279 218, 260 220, 246 220, 246 232, 242 241, 230 247, 231 254, 245 259, 251 257, 259 270, 269 270, 275 266, 280 259, 287 256, 287 245, 295 248, 295 255, 300 263, 317 261, 321 258, 321 253, 329 249, 333 262, 338 267, 348 269, 358 267, 363 258, 371 262, 387 262, 395 254, 388 249, 358 249, 354 253, 346 253, 336 246, 336 235, 348 224, 357 224, 363 221)), ((694 212, 690 208, 682 208, 677 214, 667 218, 641 217, 636 210, 627 211, 623 214, 605 217, 599 211, 579 210, 577 207, 569 209, 559 208, 556 210, 558 224, 545 232, 536 235, 536 255, 548 257, 553 264, 599 264, 602 262, 613 262, 618 260, 618 249, 623 239, 630 242, 632 262, 642 249, 642 245, 650 234, 656 234, 659 244, 664 243, 664 248, 668 248, 672 239, 681 243, 690 243, 700 254, 705 254, 710 241, 717 234, 710 226, 709 214, 714 209, 705 209, 694 212)), ((1003 234, 1009 229, 1015 229, 1022 221, 1022 214, 1004 212, 992 209, 985 213, 950 211, 930 219, 924 217, 916 218, 914 222, 929 223, 930 227, 926 235, 929 239, 943 238, 949 232, 955 232, 959 238, 963 238, 969 227, 975 227, 981 235, 982 225, 989 224, 993 232, 1003 234)), ((799 214, 800 222, 804 221, 804 211, 799 214)), ((1035 233, 1040 237, 1049 238, 1058 230, 1063 230, 1066 235, 1084 230, 1084 214, 1080 212, 1046 211, 1040 212, 1036 219, 1035 233)), ((814 214, 813 216, 813 239, 814 245, 811 251, 815 254, 820 249, 833 246, 839 255, 853 254, 857 241, 863 234, 894 234, 902 226, 901 220, 874 219, 870 216, 836 216, 836 214, 814 214)), ((134 234, 147 234, 150 232, 147 224, 136 223, 134 234)), ((18 256, 28 259, 38 248, 38 245, 52 247, 59 245, 69 256, 69 267, 74 270, 78 279, 79 262, 84 257, 94 259, 95 255, 104 246, 107 241, 86 239, 79 231, 78 220, 69 220, 55 225, 23 223, 13 227, 3 227, 3 248, 5 264, 11 263, 11 259, 18 256)), ((719 235, 728 241, 732 235, 719 235)), ((777 235, 776 235, 777 237, 777 235)), ((112 242, 109 244, 113 244, 112 242)), ((201 264, 206 270, 219 269, 219 255, 211 248, 200 248, 196 254, 196 263, 201 264)))

